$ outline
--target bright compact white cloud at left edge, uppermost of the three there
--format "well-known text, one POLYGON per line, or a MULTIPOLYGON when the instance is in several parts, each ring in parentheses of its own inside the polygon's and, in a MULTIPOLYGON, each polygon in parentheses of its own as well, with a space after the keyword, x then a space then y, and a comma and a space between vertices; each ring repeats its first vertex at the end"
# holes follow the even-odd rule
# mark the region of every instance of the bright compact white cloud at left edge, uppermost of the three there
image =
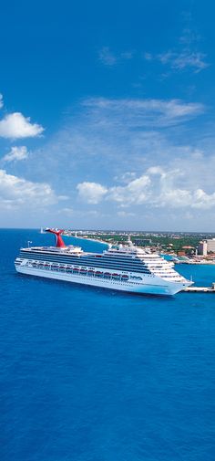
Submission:
POLYGON ((30 117, 24 117, 20 112, 5 115, 0 120, 0 137, 2 138, 33 138, 44 131, 37 123, 31 123, 30 117))

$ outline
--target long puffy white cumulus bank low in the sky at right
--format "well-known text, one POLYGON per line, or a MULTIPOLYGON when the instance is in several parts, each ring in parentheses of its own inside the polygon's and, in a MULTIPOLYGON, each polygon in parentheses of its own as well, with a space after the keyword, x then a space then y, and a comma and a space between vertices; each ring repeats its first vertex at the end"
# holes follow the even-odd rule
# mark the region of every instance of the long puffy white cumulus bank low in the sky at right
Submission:
MULTIPOLYGON (((90 199, 90 192, 94 191, 95 183, 80 183, 77 185, 77 190, 79 191, 83 187, 82 198, 89 204, 97 204, 98 201, 105 198, 117 202, 120 206, 145 204, 155 208, 189 207, 202 209, 210 209, 215 206, 215 192, 207 194, 199 187, 185 189, 181 185, 183 176, 184 173, 179 169, 165 171, 160 166, 154 166, 124 186, 107 188, 97 183, 96 190, 102 192, 98 193, 98 197, 94 197, 93 201, 90 199)), ((122 212, 120 215, 126 215, 126 213, 122 212)))

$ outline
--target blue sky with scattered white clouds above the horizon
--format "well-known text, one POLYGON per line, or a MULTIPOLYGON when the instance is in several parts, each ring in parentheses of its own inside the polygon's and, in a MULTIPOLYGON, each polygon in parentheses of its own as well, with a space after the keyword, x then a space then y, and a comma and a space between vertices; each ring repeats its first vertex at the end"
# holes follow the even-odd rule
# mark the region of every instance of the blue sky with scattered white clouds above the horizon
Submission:
POLYGON ((214 232, 214 14, 2 5, 0 226, 214 232))

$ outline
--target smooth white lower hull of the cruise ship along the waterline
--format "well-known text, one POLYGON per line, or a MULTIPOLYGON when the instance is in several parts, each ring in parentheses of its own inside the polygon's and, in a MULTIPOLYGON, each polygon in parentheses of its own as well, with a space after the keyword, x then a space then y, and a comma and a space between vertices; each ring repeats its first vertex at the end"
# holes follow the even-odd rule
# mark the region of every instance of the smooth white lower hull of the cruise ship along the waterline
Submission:
POLYGON ((55 272, 50 269, 27 267, 26 265, 15 265, 15 268, 17 272, 30 276, 52 278, 91 287, 116 289, 137 294, 172 296, 190 285, 189 282, 171 282, 159 277, 151 278, 147 275, 142 282, 132 282, 89 277, 86 275, 82 276, 80 274, 75 275, 67 272, 55 272))

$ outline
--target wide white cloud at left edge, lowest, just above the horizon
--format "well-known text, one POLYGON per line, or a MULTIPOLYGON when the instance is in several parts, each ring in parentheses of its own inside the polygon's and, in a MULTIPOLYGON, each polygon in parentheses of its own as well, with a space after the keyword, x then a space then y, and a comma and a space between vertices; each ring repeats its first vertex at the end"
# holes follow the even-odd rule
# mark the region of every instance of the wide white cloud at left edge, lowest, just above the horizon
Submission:
POLYGON ((3 208, 37 208, 55 204, 57 197, 47 183, 33 183, 0 170, 0 200, 3 208))

